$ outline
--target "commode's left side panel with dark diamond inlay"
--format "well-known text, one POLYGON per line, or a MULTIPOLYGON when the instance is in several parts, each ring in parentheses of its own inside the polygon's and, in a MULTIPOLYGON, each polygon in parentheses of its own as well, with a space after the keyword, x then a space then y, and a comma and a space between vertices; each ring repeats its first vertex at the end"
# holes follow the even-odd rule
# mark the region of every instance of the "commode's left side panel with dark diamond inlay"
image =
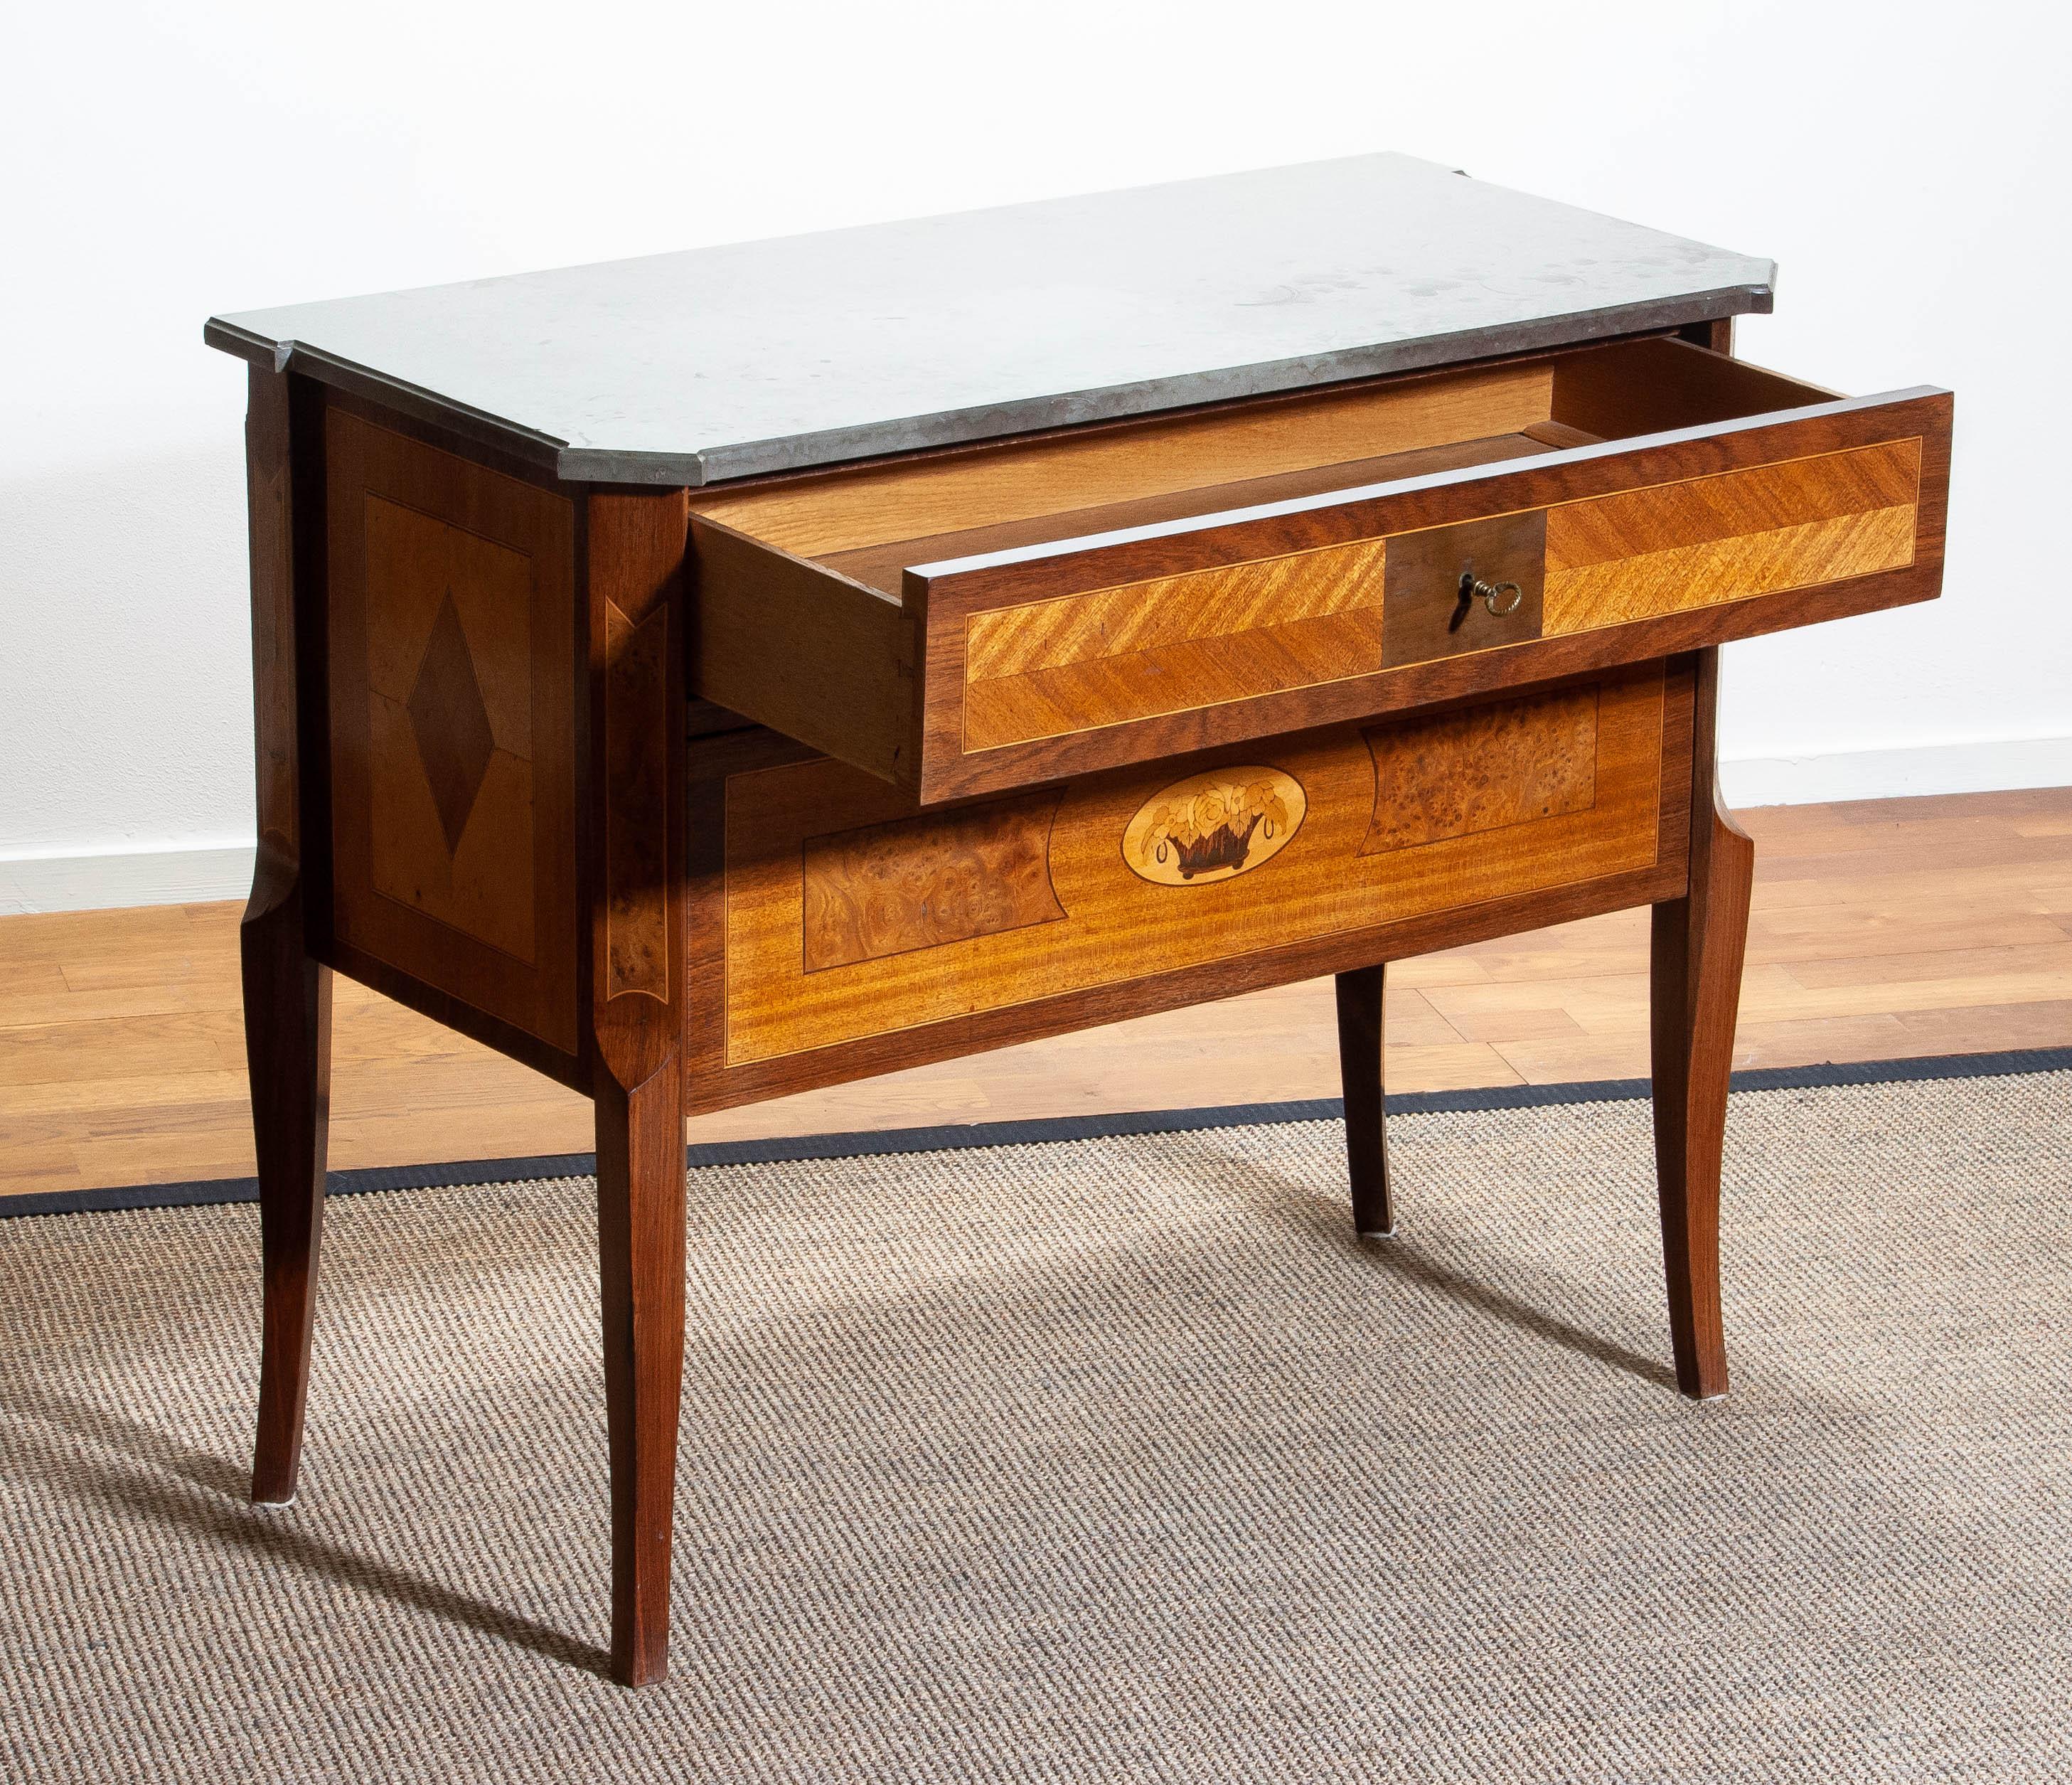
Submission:
POLYGON ((338 939, 576 1049, 574 510, 325 413, 338 939))

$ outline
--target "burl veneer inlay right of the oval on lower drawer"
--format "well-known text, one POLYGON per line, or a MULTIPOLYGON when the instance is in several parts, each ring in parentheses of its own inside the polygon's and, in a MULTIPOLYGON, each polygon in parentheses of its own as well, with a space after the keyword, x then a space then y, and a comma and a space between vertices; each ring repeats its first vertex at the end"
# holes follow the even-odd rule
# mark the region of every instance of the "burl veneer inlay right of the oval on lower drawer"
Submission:
POLYGON ((1560 688, 1363 732, 1374 823, 1361 854, 1413 850, 1562 813, 1598 798, 1598 688, 1560 688))

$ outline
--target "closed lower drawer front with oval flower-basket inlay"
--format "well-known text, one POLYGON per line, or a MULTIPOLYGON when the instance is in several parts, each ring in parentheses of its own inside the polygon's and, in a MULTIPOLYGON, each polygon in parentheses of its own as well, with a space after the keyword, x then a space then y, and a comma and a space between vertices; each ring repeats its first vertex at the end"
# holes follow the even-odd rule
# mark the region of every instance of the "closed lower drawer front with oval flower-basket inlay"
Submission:
POLYGON ((1689 659, 928 811, 694 746, 690 1107, 1674 896, 1689 786, 1689 659))

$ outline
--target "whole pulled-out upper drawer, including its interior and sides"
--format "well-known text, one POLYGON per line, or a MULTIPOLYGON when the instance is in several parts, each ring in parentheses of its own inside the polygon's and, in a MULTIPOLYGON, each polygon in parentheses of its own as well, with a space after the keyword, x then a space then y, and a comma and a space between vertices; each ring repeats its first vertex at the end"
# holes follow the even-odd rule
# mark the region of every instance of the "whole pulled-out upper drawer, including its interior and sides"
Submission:
POLYGON ((694 491, 692 680, 932 804, 1923 601, 1950 408, 1653 338, 694 491))

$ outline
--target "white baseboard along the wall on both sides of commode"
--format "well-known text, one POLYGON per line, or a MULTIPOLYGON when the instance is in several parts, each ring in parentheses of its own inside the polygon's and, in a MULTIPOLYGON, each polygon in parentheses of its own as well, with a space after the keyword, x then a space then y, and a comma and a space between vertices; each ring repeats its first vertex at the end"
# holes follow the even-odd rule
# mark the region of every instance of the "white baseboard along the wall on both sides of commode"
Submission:
MULTIPOLYGON (((1730 806, 1805 806, 1910 794, 1983 794, 1995 788, 2064 788, 2072 786, 2072 738, 1836 750, 1817 757, 1745 757, 1722 763, 1720 780, 1730 806)), ((251 883, 249 844, 27 856, 0 860, 0 916, 240 900, 251 883)))

